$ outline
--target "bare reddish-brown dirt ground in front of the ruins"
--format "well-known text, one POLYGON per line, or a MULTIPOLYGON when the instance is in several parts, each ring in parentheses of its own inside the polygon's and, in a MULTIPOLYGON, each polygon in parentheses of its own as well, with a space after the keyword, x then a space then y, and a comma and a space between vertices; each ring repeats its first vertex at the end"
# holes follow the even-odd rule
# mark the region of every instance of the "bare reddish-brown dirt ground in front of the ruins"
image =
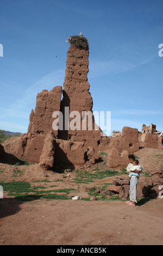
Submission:
MULTIPOLYGON (((135 155, 144 172, 163 166, 163 150, 141 149, 135 155)), ((99 171, 105 170, 106 156, 102 158, 103 161, 86 171, 96 172, 97 167, 99 171)), ((16 166, 11 162, 0 163, 0 170, 0 181, 48 180, 51 186, 57 185, 57 189, 77 190, 71 191, 68 197, 89 197, 85 187, 99 187, 116 178, 104 177, 84 184, 73 182, 74 172, 43 172, 37 164, 16 166), (22 175, 13 175, 16 167, 22 175)), ((163 198, 159 197, 143 200, 136 206, 127 205, 123 200, 40 198, 23 202, 4 191, 4 198, 0 199, 0 245, 163 245, 162 212, 163 198)))

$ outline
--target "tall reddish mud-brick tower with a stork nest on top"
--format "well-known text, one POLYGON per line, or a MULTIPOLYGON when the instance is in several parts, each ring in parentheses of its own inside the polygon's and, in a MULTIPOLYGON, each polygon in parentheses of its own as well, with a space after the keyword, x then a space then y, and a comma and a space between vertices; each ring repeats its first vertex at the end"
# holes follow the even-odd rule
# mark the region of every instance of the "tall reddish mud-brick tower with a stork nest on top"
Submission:
POLYGON ((87 81, 89 44, 82 33, 79 36, 70 36, 66 42, 70 42, 71 46, 67 51, 63 98, 61 101, 61 112, 65 123, 64 129, 59 130, 58 138, 84 142, 86 148, 88 147, 87 144, 97 148, 102 131, 95 124, 92 112, 93 101, 89 92, 90 84, 87 81), (68 119, 66 118, 67 113, 68 119), (76 128, 67 129, 71 121, 74 120, 74 115, 77 118, 77 121, 74 122, 76 128))

